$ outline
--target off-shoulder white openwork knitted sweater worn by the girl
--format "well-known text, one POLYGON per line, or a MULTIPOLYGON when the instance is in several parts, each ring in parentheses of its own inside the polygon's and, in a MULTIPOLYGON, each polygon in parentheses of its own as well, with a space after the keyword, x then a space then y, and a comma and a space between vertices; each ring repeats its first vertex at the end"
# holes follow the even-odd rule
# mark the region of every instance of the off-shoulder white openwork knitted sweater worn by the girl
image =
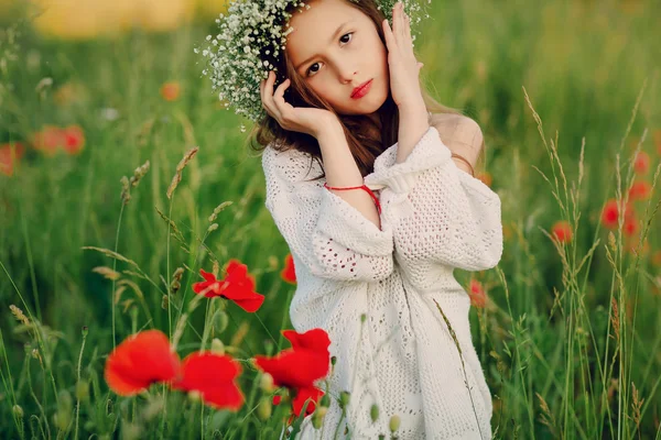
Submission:
POLYGON ((340 439, 347 421, 351 439, 390 438, 392 415, 401 419, 400 440, 491 438, 491 395, 470 337, 470 300, 453 271, 500 261, 500 199, 455 165, 434 127, 401 164, 397 147, 381 153, 365 177, 379 195, 381 230, 324 188, 325 179, 306 182, 322 172, 316 162, 310 169, 308 154, 268 146, 262 155, 266 206, 294 258, 292 324, 299 332, 325 329, 337 358, 324 427, 314 429, 307 417, 301 439, 334 438, 340 391, 351 393, 340 439))

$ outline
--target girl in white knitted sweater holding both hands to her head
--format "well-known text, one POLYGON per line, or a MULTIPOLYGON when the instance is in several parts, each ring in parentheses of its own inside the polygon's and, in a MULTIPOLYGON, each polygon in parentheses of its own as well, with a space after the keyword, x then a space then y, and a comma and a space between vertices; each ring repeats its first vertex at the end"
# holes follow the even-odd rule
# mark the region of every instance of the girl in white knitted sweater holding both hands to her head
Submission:
POLYGON ((307 4, 275 64, 286 79, 260 84, 257 125, 266 206, 294 258, 292 324, 325 329, 337 361, 323 427, 308 416, 301 437, 377 439, 398 416, 402 440, 489 439, 469 297, 453 276, 502 253, 500 199, 474 177, 479 128, 425 103, 400 3, 392 28, 373 0, 307 4))

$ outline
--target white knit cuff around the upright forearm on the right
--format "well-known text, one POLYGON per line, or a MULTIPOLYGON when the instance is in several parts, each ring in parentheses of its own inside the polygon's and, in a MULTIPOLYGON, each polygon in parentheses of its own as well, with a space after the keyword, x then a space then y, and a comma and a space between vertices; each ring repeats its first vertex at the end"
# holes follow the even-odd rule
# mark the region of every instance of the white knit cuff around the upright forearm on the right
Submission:
POLYGON ((365 177, 370 189, 388 186, 397 194, 407 194, 415 184, 419 173, 440 166, 451 160, 451 150, 441 141, 438 130, 431 125, 415 144, 407 160, 395 163, 399 143, 381 153, 375 161, 375 170, 365 177))

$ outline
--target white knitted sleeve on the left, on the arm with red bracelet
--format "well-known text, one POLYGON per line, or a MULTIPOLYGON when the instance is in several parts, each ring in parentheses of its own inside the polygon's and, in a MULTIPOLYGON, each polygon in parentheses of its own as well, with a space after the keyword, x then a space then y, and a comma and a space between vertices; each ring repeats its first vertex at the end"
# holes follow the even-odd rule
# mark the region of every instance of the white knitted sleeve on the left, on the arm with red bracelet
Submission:
POLYGON ((377 282, 392 273, 390 224, 382 220, 379 229, 324 188, 323 183, 307 182, 310 156, 299 151, 280 153, 267 146, 262 167, 267 183, 264 205, 292 254, 313 275, 377 282))

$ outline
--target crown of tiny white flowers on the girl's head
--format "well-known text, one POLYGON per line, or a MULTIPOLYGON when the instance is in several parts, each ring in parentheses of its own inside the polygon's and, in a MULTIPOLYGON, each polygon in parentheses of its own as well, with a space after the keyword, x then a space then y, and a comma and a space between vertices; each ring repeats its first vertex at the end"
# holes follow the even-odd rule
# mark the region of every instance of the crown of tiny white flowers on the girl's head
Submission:
MULTIPOLYGON (((358 3, 361 0, 351 0, 358 3)), ((365 0, 362 0, 365 1, 365 0)), ((392 25, 392 8, 397 0, 375 0, 377 8, 392 25)), ((422 10, 422 3, 416 0, 402 0, 404 11, 411 18, 411 40, 415 41, 413 24, 430 15, 422 10)), ((431 0, 427 0, 431 3, 431 0)), ((225 101, 225 108, 232 106, 235 114, 243 114, 252 121, 262 119, 267 113, 261 105, 260 82, 267 79, 269 70, 274 70, 277 81, 274 87, 284 79, 278 75, 274 66, 281 51, 284 52, 286 35, 293 28, 288 25, 282 32, 284 23, 289 23, 292 14, 285 10, 290 4, 310 9, 310 4, 297 0, 235 0, 229 4, 227 14, 216 19, 220 32, 207 35, 210 44, 195 53, 206 59, 204 76, 212 79, 213 90, 219 90, 218 98, 225 101)), ((241 132, 246 129, 241 124, 241 132)))

